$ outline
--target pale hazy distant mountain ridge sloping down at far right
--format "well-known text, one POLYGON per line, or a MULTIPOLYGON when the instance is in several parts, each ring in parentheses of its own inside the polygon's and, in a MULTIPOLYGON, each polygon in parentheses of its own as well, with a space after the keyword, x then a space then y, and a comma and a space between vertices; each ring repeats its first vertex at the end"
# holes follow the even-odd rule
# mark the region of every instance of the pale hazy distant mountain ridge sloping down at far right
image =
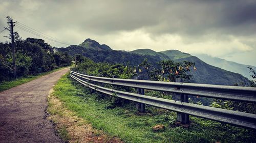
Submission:
POLYGON ((201 60, 203 60, 207 64, 222 68, 227 71, 242 74, 243 76, 245 76, 251 80, 252 80, 252 78, 250 76, 251 73, 249 73, 249 69, 247 67, 252 67, 253 69, 256 69, 256 67, 254 67, 254 66, 243 65, 243 64, 236 63, 236 62, 227 61, 225 59, 212 57, 207 54, 196 54, 196 56, 198 58, 200 58, 201 60))

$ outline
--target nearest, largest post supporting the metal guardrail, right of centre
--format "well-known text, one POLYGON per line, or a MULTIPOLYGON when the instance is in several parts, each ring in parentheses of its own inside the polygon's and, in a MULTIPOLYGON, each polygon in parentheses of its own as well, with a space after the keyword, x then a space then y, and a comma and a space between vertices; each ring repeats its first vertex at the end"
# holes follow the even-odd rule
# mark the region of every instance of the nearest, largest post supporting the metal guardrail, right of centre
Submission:
MULTIPOLYGON (((183 78, 176 78, 176 82, 183 82, 183 78)), ((180 90, 179 87, 176 90, 180 90)), ((188 102, 188 96, 184 94, 174 94, 175 100, 181 102, 188 102)), ((186 113, 177 112, 177 121, 188 124, 189 123, 189 115, 186 113)))

